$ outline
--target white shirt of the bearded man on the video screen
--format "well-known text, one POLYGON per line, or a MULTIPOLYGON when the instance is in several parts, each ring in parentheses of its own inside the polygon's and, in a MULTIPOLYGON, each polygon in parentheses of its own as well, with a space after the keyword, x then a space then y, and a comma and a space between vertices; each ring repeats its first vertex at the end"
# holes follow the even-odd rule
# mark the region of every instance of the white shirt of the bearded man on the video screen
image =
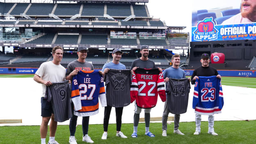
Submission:
POLYGON ((243 18, 241 13, 239 13, 222 22, 222 25, 233 25, 233 24, 240 24, 240 23, 252 23, 252 21, 249 20, 248 18, 243 18))

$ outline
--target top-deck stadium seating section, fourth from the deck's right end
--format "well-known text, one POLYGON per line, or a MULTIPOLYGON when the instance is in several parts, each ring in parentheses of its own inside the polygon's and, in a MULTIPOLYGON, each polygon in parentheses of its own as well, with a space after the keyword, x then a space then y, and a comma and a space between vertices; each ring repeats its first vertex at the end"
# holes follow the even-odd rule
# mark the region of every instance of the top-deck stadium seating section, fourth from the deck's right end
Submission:
POLYGON ((73 16, 79 14, 81 4, 58 4, 54 11, 56 16, 73 16))

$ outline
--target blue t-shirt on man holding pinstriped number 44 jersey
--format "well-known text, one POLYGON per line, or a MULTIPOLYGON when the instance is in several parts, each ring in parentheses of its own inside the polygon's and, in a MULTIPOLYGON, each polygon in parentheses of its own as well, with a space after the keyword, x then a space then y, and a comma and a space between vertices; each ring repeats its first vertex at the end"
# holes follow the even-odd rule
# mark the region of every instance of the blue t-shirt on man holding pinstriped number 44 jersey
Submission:
POLYGON ((185 71, 181 68, 175 69, 174 67, 169 67, 168 69, 165 69, 163 72, 164 78, 175 78, 175 79, 181 79, 185 78, 185 71))

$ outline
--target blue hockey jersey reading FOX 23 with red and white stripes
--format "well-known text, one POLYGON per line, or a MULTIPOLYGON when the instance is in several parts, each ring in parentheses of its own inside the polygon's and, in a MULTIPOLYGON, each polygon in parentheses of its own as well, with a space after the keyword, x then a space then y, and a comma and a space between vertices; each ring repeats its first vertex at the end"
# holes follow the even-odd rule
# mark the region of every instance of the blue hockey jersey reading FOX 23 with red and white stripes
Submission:
POLYGON ((193 109, 196 114, 221 113, 224 105, 222 85, 216 76, 199 76, 194 84, 193 109))

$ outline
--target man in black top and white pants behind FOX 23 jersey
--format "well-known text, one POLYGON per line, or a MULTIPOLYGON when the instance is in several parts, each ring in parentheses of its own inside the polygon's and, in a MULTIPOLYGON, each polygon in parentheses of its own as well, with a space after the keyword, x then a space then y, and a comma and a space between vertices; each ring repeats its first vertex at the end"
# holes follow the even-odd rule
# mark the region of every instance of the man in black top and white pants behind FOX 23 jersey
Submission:
MULTIPOLYGON (((217 70, 209 66, 210 56, 207 53, 203 53, 201 55, 200 62, 202 63, 202 66, 195 69, 193 72, 193 75, 191 76, 192 85, 195 84, 196 79, 199 79, 199 76, 217 75, 217 78, 219 79, 221 78, 217 70)), ((196 132, 194 133, 194 135, 200 134, 201 132, 200 126, 201 126, 201 114, 196 114, 196 132)), ((214 126, 214 115, 209 115, 208 116, 208 133, 216 136, 218 134, 214 132, 213 126, 214 126)))

